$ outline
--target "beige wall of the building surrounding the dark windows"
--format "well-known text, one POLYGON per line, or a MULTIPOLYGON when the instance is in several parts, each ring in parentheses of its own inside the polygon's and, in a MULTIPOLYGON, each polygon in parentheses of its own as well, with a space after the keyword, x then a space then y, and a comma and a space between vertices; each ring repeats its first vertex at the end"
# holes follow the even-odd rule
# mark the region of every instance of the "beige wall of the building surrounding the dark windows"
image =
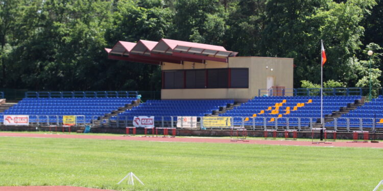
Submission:
MULTIPOLYGON (((161 70, 186 70, 208 68, 249 68, 249 88, 228 89, 162 89, 162 99, 235 99, 245 101, 258 96, 259 89, 269 86, 293 88, 293 59, 268 57, 231 57, 228 63, 206 61, 185 62, 183 65, 164 63, 161 70), (273 82, 273 84, 270 84, 273 82)), ((264 90, 266 92, 266 90, 264 90)))

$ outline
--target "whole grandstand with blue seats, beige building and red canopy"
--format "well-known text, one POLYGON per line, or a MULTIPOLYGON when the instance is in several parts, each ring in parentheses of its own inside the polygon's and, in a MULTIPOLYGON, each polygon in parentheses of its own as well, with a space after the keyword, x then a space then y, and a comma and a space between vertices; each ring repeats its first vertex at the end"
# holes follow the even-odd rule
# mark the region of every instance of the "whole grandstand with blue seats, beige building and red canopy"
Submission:
POLYGON ((161 100, 142 102, 136 91, 27 92, 3 107, 0 122, 27 115, 30 125, 63 125, 64 116, 76 116, 76 125, 123 129, 147 117, 155 127, 192 128, 179 120, 195 117, 197 129, 304 131, 321 127, 323 116, 337 131, 383 129, 383 97, 365 102, 360 88, 324 89, 321 107, 320 89, 293 89, 293 59, 237 57, 222 46, 170 39, 118 41, 105 50, 109 59, 159 65, 161 100), (211 119, 231 123, 208 126, 211 119))

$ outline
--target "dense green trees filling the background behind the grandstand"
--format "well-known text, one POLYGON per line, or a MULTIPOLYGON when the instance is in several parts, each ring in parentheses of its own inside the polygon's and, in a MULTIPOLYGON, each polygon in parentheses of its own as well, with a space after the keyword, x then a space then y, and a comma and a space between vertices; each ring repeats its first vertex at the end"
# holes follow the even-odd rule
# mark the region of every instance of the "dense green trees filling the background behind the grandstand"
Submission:
POLYGON ((108 60, 104 47, 171 38, 223 45, 239 56, 294 58, 300 87, 301 80, 320 83, 323 39, 325 81, 368 87, 366 52, 372 49, 377 88, 382 18, 383 0, 0 0, 0 84, 159 90, 158 66, 108 60))

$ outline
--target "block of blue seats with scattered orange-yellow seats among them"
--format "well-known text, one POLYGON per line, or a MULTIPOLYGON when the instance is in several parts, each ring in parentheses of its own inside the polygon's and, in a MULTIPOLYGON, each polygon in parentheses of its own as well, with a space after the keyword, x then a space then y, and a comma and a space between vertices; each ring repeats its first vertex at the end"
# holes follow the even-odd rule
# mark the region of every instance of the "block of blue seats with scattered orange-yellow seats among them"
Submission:
MULTIPOLYGON (((360 98, 360 96, 324 96, 323 116, 339 111, 341 107, 345 107, 349 103, 354 103, 355 98, 360 98)), ((304 98, 301 96, 255 97, 241 106, 234 107, 233 110, 225 114, 220 114, 220 116, 273 118, 274 122, 268 120, 271 124, 276 123, 276 121, 287 120, 286 118, 289 118, 289 122, 290 120, 294 121, 294 118, 301 118, 301 120, 311 118, 316 121, 316 119, 321 117, 321 104, 319 96, 306 96, 304 98), (290 107, 289 110, 287 109, 288 107, 290 107)), ((252 121, 251 118, 249 121, 252 121)), ((283 126, 283 124, 278 125, 283 126)))

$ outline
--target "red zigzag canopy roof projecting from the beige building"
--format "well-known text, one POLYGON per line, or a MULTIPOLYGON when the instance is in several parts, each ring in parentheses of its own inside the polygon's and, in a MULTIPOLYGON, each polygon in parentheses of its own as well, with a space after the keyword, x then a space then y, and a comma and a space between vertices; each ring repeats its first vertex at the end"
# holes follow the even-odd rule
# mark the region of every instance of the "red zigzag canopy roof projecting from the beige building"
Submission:
POLYGON ((228 57, 235 57, 238 53, 227 51, 223 46, 171 39, 161 39, 159 42, 139 40, 137 43, 118 41, 112 49, 105 50, 110 59, 147 64, 182 64, 183 61, 204 63, 205 60, 227 62, 228 57))

